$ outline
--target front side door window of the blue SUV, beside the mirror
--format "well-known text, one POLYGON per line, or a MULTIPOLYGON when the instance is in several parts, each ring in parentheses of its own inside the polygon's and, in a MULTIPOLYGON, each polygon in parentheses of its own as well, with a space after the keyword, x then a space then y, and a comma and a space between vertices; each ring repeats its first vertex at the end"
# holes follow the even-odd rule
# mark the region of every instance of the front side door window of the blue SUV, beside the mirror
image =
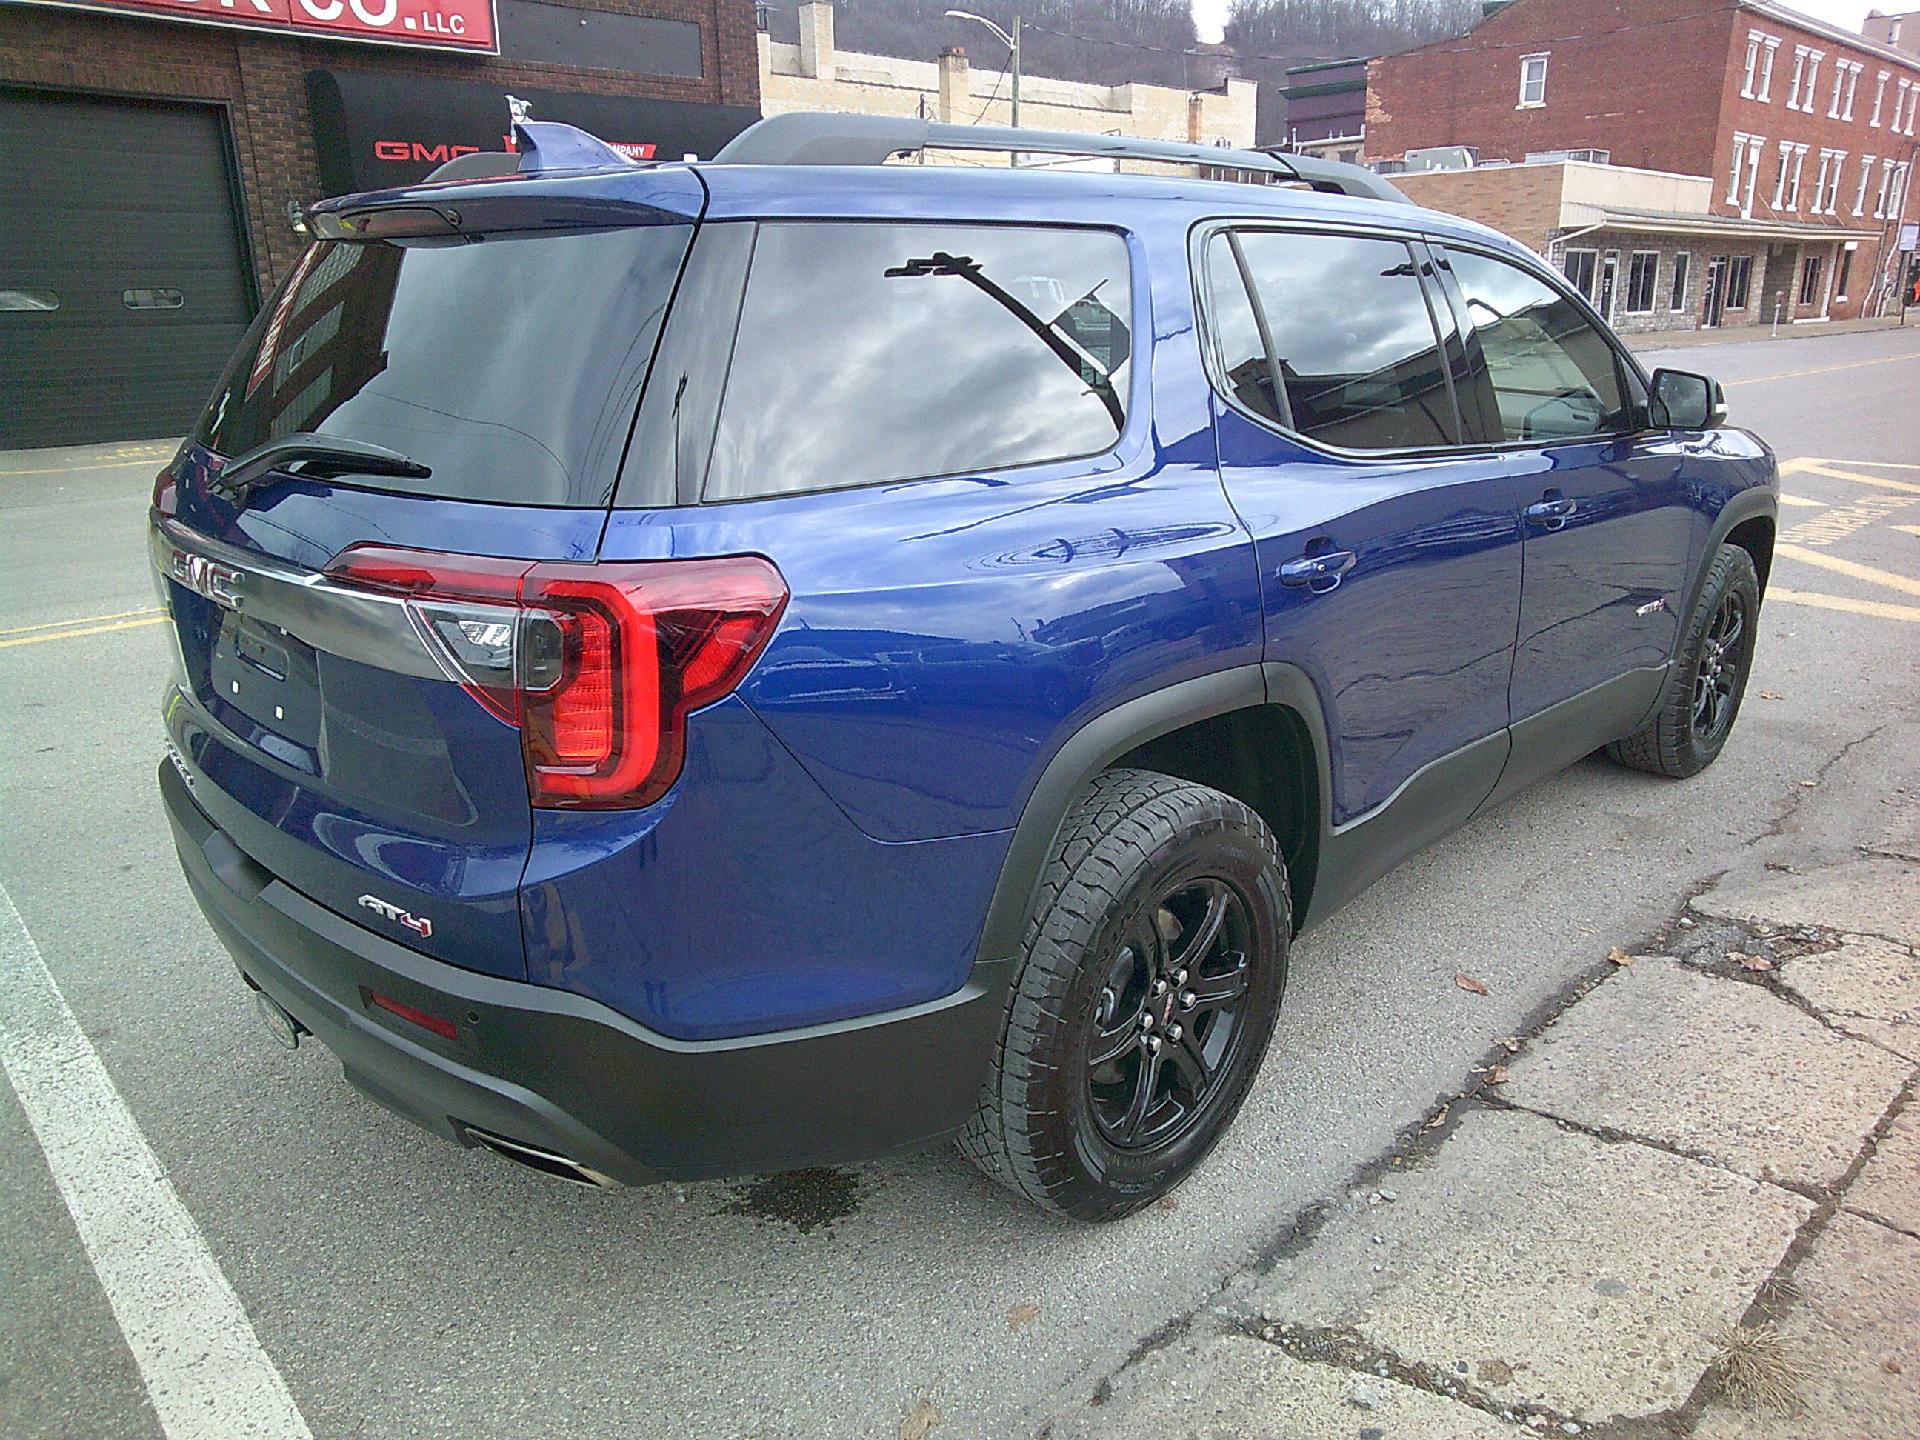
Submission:
POLYGON ((1463 390, 1496 417, 1488 440, 1574 440, 1626 419, 1613 346, 1572 300, 1517 265, 1471 252, 1448 261, 1467 301, 1463 390))

